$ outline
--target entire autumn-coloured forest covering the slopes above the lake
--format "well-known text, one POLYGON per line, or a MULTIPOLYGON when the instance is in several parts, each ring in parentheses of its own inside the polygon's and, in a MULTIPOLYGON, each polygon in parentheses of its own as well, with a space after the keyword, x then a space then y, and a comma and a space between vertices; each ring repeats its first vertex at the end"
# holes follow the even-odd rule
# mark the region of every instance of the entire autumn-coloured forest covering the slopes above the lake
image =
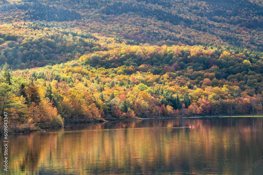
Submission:
POLYGON ((20 132, 262 114, 261 4, 2 1, 0 115, 20 132))

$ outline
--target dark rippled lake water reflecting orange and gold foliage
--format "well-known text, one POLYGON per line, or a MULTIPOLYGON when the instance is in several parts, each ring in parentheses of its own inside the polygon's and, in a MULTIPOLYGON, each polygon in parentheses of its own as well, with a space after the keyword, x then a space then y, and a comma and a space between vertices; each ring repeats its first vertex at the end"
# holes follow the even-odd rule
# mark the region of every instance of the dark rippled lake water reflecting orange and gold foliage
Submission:
POLYGON ((0 174, 262 174, 262 126, 253 117, 175 118, 12 134, 8 172, 0 136, 0 174))

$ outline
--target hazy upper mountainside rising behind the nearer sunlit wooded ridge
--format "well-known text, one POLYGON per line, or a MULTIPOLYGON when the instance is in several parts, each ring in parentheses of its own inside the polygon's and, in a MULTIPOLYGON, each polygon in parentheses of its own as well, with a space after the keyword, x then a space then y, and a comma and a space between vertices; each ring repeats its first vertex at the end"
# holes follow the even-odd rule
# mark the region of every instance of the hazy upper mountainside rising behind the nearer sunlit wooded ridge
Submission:
POLYGON ((5 0, 0 6, 0 64, 7 62, 12 69, 54 65, 107 50, 107 45, 115 42, 221 45, 261 52, 261 4, 5 0))

